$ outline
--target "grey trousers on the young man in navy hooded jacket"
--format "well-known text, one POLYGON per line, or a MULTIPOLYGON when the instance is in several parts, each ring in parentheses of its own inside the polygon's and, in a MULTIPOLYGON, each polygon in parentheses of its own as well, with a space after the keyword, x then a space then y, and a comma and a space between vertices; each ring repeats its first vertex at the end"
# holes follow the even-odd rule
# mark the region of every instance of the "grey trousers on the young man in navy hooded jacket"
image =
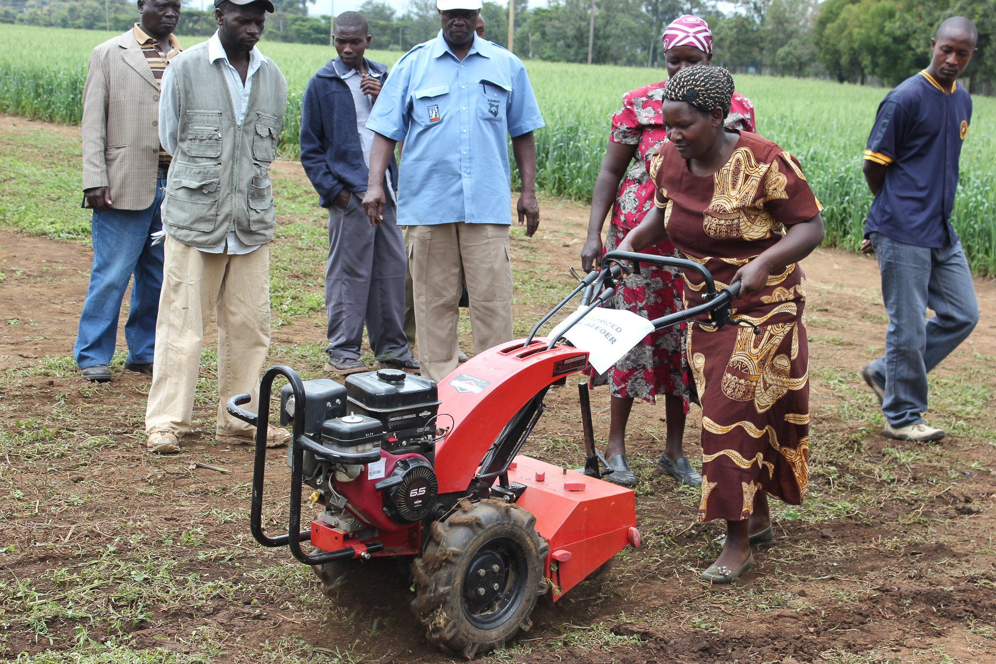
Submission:
POLYGON ((404 319, 407 259, 398 228, 397 208, 388 200, 383 221, 371 227, 360 195, 341 210, 329 209, 329 260, 325 269, 325 309, 329 318, 328 353, 360 357, 364 324, 378 359, 411 359, 404 319))

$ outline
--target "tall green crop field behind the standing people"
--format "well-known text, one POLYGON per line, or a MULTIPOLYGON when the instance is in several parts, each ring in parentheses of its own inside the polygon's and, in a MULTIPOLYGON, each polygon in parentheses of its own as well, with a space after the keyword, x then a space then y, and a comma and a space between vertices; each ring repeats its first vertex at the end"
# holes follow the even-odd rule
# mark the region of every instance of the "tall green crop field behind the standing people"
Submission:
MULTIPOLYGON (((104 32, 0 25, 0 112, 78 124, 90 51, 108 38, 104 32)), ((180 41, 190 47, 201 39, 180 41)), ((260 49, 288 81, 280 148, 284 156, 295 157, 305 86, 335 52, 265 41, 260 49)), ((368 56, 393 64, 400 54, 369 51, 368 56)), ((537 186, 552 195, 588 200, 605 153, 610 114, 620 108, 625 91, 658 81, 664 72, 539 61, 527 62, 526 68, 547 123, 536 136, 537 186)), ((857 249, 871 205, 862 152, 886 90, 804 79, 735 79, 738 92, 754 103, 759 132, 802 162, 825 206, 826 243, 857 249)), ((996 276, 994 154, 996 100, 976 97, 952 222, 973 272, 982 276, 996 276)))

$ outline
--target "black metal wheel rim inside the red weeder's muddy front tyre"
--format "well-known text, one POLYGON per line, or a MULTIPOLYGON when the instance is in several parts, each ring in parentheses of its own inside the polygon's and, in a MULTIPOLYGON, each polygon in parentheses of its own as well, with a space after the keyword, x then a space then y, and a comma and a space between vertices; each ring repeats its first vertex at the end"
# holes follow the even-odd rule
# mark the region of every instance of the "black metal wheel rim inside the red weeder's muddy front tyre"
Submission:
POLYGON ((475 626, 500 624, 523 598, 525 554, 509 538, 491 540, 477 550, 463 577, 463 605, 475 626))

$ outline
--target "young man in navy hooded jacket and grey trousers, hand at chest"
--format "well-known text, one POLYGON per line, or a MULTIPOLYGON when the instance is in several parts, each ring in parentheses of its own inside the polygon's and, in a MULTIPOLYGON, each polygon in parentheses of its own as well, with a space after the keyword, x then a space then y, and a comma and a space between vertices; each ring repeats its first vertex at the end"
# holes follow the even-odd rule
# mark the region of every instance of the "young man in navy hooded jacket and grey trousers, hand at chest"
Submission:
POLYGON ((371 36, 363 14, 340 14, 333 30, 339 57, 312 77, 301 108, 301 163, 329 209, 325 368, 340 375, 369 370, 360 360, 366 324, 380 366, 417 371, 403 331, 407 258, 396 223, 393 159, 383 222, 372 226, 362 205, 373 143, 367 118, 387 68, 364 57, 371 36))

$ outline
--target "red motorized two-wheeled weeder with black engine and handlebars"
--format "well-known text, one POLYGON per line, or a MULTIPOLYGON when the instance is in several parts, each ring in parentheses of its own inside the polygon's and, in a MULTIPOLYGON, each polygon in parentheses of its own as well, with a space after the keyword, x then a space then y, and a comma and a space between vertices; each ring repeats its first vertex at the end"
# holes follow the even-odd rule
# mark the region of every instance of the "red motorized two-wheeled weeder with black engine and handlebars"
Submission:
POLYGON ((256 541, 288 547, 323 580, 351 558, 413 558, 411 608, 426 637, 468 659, 529 629, 536 597, 548 588, 556 601, 626 545, 638 547, 633 492, 601 479, 612 471, 595 449, 587 384, 579 386, 585 471, 518 454, 547 390, 588 364, 588 352, 562 334, 536 332, 583 292, 583 305, 600 293, 589 311, 608 302, 620 261, 695 270, 705 280, 705 303, 653 321, 658 330, 708 312, 717 325, 728 322, 739 284, 717 293, 697 263, 611 252, 529 337, 479 353, 438 385, 395 369, 351 375, 345 386, 302 381, 287 366, 268 369, 260 403, 270 402, 278 375, 289 382, 280 398, 281 422, 292 424, 287 535, 270 537, 262 526, 269 413, 239 407, 248 394, 228 402, 232 415, 256 426, 256 541), (303 485, 324 508, 306 531, 303 485), (325 553, 305 553, 302 542, 325 553))

